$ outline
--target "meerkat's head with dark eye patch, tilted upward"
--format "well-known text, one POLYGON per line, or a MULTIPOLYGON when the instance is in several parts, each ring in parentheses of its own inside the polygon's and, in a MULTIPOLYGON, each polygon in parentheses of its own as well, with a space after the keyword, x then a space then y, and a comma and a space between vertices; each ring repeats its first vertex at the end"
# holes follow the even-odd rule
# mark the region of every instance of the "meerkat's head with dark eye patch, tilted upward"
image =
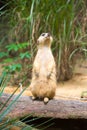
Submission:
POLYGON ((53 41, 52 36, 50 35, 50 33, 42 33, 40 35, 40 37, 37 40, 38 46, 42 47, 42 46, 51 46, 51 43, 53 41))

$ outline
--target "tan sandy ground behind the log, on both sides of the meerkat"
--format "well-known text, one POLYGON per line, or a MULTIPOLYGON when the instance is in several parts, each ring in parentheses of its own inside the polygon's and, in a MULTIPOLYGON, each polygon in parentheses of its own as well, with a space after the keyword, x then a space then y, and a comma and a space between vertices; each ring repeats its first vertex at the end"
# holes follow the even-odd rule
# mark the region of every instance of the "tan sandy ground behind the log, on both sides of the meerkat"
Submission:
MULTIPOLYGON (((5 88, 5 93, 13 93, 17 87, 8 86, 5 88)), ((66 82, 58 83, 55 98, 80 99, 83 91, 87 91, 87 60, 80 61, 74 68, 73 78, 66 82)), ((16 94, 20 93, 18 88, 16 94)), ((23 95, 31 96, 29 88, 27 88, 23 95)))

